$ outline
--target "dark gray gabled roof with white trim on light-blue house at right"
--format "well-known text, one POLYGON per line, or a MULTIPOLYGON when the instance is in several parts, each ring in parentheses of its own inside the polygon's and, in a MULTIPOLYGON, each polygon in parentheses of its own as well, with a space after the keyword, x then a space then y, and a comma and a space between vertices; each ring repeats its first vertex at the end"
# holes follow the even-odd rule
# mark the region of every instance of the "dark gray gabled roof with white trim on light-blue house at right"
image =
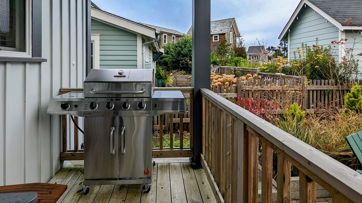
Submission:
POLYGON ((301 0, 287 25, 279 35, 279 40, 287 38, 290 27, 297 20, 303 8, 311 7, 322 17, 326 18, 340 30, 359 30, 362 25, 361 0, 301 0), (352 18, 352 25, 347 25, 345 20, 352 18))

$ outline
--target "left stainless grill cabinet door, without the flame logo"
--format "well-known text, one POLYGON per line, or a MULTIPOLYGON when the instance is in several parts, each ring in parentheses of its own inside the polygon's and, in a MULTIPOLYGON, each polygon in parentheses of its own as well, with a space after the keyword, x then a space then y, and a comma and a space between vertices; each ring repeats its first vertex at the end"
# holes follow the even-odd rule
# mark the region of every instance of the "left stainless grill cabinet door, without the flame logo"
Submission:
POLYGON ((118 125, 118 117, 84 118, 84 179, 118 178, 118 125))

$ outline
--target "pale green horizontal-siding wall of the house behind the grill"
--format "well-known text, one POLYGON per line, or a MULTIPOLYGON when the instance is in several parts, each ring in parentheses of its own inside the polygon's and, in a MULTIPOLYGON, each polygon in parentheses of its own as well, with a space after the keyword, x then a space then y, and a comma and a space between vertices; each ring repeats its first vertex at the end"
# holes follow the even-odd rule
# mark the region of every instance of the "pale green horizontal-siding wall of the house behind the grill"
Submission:
POLYGON ((92 19, 100 33, 100 68, 137 68, 137 35, 92 19))

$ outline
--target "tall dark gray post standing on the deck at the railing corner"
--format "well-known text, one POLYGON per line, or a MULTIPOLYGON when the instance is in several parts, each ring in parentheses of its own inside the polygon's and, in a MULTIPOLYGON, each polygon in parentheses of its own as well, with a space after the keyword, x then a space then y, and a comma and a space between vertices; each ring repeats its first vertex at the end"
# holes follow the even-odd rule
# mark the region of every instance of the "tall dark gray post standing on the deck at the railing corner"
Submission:
POLYGON ((202 96, 201 88, 210 88, 210 0, 192 1, 192 86, 193 147, 191 166, 202 168, 202 96))

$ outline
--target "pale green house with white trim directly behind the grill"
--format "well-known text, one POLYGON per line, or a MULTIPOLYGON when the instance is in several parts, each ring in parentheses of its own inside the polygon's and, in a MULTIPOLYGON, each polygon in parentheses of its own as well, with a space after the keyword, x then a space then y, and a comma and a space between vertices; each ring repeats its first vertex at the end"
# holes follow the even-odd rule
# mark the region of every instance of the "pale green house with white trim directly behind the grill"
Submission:
POLYGON ((95 4, 91 10, 92 68, 156 67, 159 55, 154 55, 164 52, 159 31, 105 12, 95 4))

